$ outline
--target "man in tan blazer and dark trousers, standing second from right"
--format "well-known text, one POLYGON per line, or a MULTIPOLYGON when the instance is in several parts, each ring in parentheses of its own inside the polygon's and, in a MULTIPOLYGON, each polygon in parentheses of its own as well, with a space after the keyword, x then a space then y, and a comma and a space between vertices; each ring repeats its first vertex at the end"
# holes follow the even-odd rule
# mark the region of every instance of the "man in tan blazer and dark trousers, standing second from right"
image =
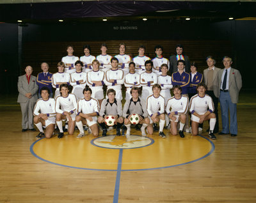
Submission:
POLYGON ((216 61, 212 56, 206 57, 206 63, 208 65, 208 68, 204 70, 204 83, 207 86, 206 94, 208 94, 212 98, 212 101, 214 104, 214 113, 216 115, 216 124, 214 126, 213 133, 218 133, 219 132, 218 94, 220 92, 220 89, 218 88, 219 87, 218 71, 220 71, 220 68, 215 67, 216 61))

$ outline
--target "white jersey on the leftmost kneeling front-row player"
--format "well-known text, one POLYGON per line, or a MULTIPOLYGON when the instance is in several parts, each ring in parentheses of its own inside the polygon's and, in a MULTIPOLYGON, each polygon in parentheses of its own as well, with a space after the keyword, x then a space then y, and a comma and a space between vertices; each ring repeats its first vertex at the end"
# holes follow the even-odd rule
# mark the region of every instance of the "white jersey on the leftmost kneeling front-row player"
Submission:
POLYGON ((47 101, 40 98, 36 101, 33 114, 34 116, 38 116, 40 113, 47 114, 48 117, 56 116, 54 98, 49 98, 47 101))

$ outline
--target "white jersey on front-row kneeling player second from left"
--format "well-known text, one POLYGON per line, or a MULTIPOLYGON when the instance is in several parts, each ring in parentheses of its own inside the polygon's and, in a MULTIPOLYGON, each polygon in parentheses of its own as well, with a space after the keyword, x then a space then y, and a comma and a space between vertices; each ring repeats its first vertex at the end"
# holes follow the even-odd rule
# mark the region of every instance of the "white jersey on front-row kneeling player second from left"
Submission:
POLYGON ((62 114, 63 112, 76 112, 76 96, 75 94, 68 94, 67 97, 63 97, 61 95, 56 98, 55 110, 56 113, 62 114))

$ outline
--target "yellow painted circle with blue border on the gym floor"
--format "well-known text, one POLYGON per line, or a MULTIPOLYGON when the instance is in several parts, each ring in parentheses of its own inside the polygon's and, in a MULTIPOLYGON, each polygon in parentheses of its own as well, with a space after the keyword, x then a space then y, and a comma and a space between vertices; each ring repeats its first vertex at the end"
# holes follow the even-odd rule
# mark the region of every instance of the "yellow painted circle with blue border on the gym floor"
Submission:
POLYGON ((76 136, 40 139, 31 145, 30 151, 44 162, 63 167, 111 171, 116 171, 120 163, 122 171, 176 167, 202 160, 214 151, 212 141, 203 136, 76 136))

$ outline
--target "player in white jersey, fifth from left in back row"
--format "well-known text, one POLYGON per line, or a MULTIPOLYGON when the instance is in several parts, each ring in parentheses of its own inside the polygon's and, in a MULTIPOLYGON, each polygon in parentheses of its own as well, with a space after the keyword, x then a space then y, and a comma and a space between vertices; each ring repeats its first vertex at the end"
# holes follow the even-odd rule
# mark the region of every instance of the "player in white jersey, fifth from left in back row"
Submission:
POLYGON ((151 60, 150 57, 144 55, 145 50, 146 50, 146 47, 141 45, 138 50, 139 55, 132 59, 132 61, 136 64, 135 71, 136 73, 139 73, 139 74, 145 71, 145 62, 148 60, 151 60))

